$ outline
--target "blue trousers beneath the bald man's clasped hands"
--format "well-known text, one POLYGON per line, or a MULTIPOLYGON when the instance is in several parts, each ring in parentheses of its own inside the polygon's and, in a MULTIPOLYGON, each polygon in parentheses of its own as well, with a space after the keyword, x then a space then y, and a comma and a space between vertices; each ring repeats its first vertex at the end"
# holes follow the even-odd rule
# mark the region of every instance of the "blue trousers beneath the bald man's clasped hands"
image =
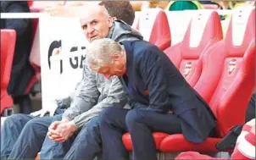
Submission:
POLYGON ((89 120, 81 130, 69 140, 54 142, 46 137, 40 159, 86 159, 93 160, 101 149, 98 117, 89 120))

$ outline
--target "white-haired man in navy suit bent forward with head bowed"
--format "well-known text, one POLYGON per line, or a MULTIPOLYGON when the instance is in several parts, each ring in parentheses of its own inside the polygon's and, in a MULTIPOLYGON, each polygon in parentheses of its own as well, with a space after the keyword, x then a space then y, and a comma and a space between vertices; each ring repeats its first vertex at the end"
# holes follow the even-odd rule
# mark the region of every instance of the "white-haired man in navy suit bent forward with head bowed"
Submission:
POLYGON ((182 133, 202 143, 213 135, 216 118, 207 102, 186 82, 158 47, 147 41, 104 38, 87 47, 89 67, 106 78, 120 76, 131 110, 100 113, 103 159, 128 159, 122 135, 130 132, 135 159, 157 159, 152 132, 182 133))

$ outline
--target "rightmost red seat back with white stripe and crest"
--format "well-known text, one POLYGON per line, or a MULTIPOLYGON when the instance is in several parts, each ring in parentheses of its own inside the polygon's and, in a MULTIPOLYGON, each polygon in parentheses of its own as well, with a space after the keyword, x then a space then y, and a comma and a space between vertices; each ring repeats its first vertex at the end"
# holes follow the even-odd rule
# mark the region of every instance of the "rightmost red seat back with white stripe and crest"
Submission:
MULTIPOLYGON (((209 102, 218 119, 218 134, 244 124, 248 102, 255 87, 255 8, 237 8, 225 40, 214 49, 221 52, 220 82, 209 102)), ((217 56, 217 55, 216 55, 217 56)), ((216 62, 209 64, 216 67, 216 62)), ((209 76, 208 80, 211 80, 209 76)))

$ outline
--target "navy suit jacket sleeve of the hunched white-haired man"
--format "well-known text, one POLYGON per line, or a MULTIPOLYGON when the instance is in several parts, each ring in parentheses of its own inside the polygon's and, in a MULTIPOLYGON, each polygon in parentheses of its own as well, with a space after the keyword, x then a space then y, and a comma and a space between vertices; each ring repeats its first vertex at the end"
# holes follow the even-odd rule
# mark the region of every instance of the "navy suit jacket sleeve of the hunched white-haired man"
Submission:
POLYGON ((150 47, 142 52, 138 60, 138 69, 149 94, 147 110, 158 113, 170 111, 170 100, 167 90, 167 81, 164 64, 161 63, 158 47, 150 47))

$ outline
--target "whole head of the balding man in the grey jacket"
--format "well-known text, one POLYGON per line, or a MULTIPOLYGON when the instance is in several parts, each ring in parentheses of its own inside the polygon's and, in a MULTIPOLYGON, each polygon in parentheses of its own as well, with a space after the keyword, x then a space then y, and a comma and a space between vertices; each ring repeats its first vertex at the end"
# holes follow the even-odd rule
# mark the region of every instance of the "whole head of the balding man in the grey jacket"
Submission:
POLYGON ((78 10, 81 19, 81 28, 88 41, 105 38, 113 25, 113 19, 108 10, 97 4, 81 6, 78 10))

